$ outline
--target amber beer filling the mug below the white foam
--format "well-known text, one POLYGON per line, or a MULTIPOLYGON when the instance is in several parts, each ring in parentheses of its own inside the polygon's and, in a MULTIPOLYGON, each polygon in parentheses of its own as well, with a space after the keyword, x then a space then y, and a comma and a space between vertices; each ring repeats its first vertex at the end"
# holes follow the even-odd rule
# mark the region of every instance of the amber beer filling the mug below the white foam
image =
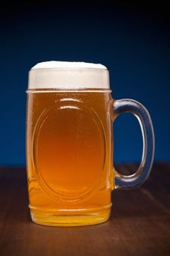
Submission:
POLYGON ((86 225, 108 219, 110 102, 109 89, 28 90, 28 192, 35 222, 86 225))

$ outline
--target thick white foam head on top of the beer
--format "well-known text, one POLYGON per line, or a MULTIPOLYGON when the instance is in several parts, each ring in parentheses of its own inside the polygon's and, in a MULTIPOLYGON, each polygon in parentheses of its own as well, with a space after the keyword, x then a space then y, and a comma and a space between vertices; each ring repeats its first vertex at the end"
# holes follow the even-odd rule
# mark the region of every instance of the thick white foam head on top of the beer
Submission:
POLYGON ((102 64, 45 61, 31 68, 28 89, 109 89, 109 71, 102 64))

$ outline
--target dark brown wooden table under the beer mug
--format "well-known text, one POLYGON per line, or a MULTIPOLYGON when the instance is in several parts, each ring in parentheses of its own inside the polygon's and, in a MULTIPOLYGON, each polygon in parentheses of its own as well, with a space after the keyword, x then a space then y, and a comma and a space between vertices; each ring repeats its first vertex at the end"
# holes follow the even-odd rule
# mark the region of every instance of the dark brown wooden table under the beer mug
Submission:
MULTIPOLYGON (((136 170, 136 165, 117 169, 136 170)), ((86 227, 31 222, 26 170, 0 168, 0 255, 170 255, 170 165, 152 167, 137 189, 112 192, 112 217, 86 227)))

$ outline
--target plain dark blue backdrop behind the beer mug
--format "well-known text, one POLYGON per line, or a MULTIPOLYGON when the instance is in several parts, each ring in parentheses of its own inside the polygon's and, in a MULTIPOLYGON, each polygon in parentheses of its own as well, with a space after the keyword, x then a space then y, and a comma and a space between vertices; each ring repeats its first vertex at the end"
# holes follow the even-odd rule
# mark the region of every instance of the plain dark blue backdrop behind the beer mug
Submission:
MULTIPOLYGON (((0 165, 25 165, 28 69, 40 61, 107 66, 115 99, 149 110, 155 160, 170 160, 170 37, 166 6, 48 4, 1 6, 0 165)), ((134 116, 115 121, 115 162, 139 162, 142 136, 134 116)))

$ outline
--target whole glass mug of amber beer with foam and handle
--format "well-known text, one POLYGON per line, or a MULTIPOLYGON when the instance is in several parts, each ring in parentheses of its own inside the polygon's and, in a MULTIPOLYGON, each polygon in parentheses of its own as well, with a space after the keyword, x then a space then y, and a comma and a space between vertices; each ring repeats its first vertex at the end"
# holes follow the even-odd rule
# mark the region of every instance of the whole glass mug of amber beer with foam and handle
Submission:
MULTIPOLYGON (((31 219, 42 225, 106 222, 113 189, 131 189, 150 173, 152 121, 133 99, 112 99, 104 65, 47 61, 28 78, 26 162, 31 219), (121 113, 139 121, 142 162, 131 176, 113 167, 112 124, 121 113)), ((130 203, 130 202, 129 202, 130 203)))

